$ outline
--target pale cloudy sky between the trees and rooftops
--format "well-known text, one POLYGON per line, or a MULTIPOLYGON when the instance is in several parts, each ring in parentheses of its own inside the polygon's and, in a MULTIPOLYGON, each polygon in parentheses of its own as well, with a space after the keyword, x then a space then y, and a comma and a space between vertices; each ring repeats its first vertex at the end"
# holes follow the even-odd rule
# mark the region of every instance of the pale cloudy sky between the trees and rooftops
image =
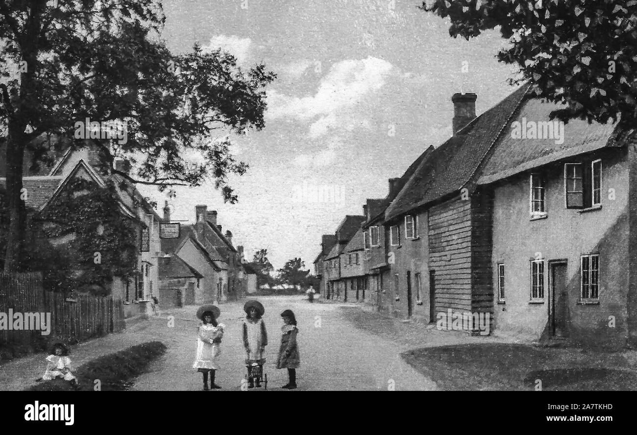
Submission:
POLYGON ((419 10, 418 0, 163 4, 173 52, 196 42, 220 47, 241 66, 263 63, 278 77, 268 87, 266 127, 230 137, 234 156, 250 166, 229 178, 238 203, 224 204, 212 183, 177 188, 171 199, 140 190, 160 213, 168 199, 172 218, 184 223, 196 204, 217 210, 247 259, 266 248, 275 269, 294 257, 311 268, 321 234, 361 215, 367 198, 387 195, 388 178, 445 141, 455 92, 475 92, 479 115, 515 89, 507 83, 515 69, 495 57, 506 43, 498 32, 451 38, 448 22, 419 10))

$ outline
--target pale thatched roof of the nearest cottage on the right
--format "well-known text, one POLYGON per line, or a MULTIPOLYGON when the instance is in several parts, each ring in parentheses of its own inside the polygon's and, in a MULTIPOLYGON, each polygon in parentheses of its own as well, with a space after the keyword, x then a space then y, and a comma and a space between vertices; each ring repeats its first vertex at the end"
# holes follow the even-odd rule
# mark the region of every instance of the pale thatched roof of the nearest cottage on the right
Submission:
MULTIPOLYGON (((517 115, 510 120, 506 131, 512 131, 513 122, 520 122, 522 125, 526 125, 523 124, 526 121, 548 122, 550 112, 558 108, 556 104, 529 98, 524 101, 517 115)), ((589 124, 584 120, 570 120, 564 125, 563 143, 555 143, 555 138, 514 139, 511 134, 503 134, 490 153, 478 183, 502 180, 528 169, 599 148, 620 146, 622 143, 614 139, 616 128, 617 124, 612 123, 589 124)))

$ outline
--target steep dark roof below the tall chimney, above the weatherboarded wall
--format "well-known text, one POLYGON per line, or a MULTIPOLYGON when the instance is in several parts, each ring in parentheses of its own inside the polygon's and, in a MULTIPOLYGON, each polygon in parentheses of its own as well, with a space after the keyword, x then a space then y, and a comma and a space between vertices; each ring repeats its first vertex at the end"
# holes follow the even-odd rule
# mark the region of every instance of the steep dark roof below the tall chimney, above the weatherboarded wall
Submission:
POLYGON ((530 83, 522 85, 422 160, 385 211, 385 220, 462 189, 505 131, 530 87, 530 83))

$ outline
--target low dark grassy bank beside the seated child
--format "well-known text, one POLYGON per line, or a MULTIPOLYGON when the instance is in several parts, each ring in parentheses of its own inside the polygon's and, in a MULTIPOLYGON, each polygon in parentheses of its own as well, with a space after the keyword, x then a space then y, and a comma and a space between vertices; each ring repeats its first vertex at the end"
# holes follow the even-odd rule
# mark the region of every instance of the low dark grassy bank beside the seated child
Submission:
MULTIPOLYGON (((150 341, 131 346, 120 352, 110 353, 82 364, 73 370, 80 382, 80 390, 92 391, 95 380, 101 383, 102 391, 121 391, 132 385, 132 380, 145 373, 148 364, 166 352, 161 341, 150 341)), ((63 379, 44 381, 27 391, 71 391, 71 383, 63 379)))

